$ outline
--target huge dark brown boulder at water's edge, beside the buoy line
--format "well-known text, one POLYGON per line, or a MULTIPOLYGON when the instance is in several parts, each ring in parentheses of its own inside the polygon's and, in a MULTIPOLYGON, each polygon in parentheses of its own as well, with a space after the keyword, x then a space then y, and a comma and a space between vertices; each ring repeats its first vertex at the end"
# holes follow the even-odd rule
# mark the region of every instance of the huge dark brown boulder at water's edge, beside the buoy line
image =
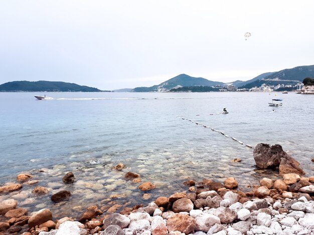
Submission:
POLYGON ((254 148, 253 156, 256 165, 259 168, 265 169, 268 167, 279 166, 280 174, 305 173, 299 167, 300 163, 283 151, 281 145, 279 144, 269 145, 267 143, 258 143, 254 148))

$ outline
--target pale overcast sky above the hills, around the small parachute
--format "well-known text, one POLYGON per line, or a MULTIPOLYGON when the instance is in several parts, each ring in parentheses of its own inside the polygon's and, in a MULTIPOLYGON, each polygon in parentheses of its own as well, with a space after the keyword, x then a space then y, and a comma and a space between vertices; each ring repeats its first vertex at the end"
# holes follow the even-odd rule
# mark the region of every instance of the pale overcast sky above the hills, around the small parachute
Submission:
POLYGON ((313 9, 313 0, 0 0, 0 84, 113 90, 311 65, 313 9))

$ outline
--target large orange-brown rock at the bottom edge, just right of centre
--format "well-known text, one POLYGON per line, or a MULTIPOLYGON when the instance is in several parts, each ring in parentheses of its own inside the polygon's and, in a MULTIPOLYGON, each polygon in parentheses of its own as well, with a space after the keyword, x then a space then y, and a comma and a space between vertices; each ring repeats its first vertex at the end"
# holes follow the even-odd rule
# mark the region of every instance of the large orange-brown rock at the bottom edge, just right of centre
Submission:
POLYGON ((167 220, 167 228, 170 232, 181 231, 188 235, 195 227, 195 219, 187 214, 174 214, 167 220))

